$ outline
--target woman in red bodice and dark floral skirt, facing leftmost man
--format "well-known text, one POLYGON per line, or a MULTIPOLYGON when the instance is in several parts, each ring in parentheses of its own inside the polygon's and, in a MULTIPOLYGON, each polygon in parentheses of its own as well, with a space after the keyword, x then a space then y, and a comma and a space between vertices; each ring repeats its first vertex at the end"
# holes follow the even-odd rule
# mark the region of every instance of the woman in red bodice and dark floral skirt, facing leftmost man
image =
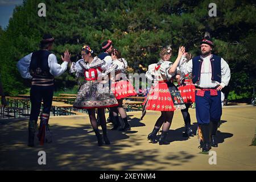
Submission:
POLYGON ((102 84, 101 80, 104 77, 103 72, 111 71, 112 68, 104 60, 95 56, 89 46, 82 47, 81 55, 82 59, 72 63, 71 72, 76 72, 76 76, 84 76, 86 82, 80 86, 73 105, 78 109, 88 110, 90 123, 98 140, 98 146, 102 146, 104 142, 105 144, 110 144, 106 128, 105 108, 114 107, 118 104, 109 87, 106 84, 102 84), (96 108, 100 116, 103 138, 96 122, 96 108))

